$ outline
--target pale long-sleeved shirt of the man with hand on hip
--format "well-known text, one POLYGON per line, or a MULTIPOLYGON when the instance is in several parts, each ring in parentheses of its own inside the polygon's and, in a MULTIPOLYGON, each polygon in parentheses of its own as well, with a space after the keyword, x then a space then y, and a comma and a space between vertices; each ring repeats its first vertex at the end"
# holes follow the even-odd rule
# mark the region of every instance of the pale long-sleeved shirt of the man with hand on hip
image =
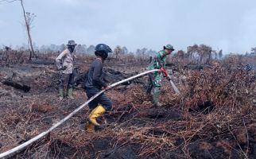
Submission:
POLYGON ((62 71, 64 74, 72 74, 73 72, 73 60, 74 57, 72 56, 72 53, 67 49, 65 49, 63 52, 60 53, 59 56, 56 58, 56 65, 57 68, 63 68, 66 66, 67 68, 62 71))

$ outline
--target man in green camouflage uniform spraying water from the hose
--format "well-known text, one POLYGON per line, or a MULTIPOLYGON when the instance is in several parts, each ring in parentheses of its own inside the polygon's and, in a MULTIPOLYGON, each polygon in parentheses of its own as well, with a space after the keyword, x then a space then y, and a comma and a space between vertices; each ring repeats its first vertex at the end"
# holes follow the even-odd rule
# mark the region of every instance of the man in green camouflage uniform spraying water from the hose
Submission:
MULTIPOLYGON (((153 69, 165 69, 165 60, 166 56, 170 55, 171 52, 174 51, 174 48, 172 45, 165 45, 164 49, 157 52, 157 55, 153 58, 151 64, 149 64, 148 70, 153 69)), ((161 103, 159 103, 159 96, 160 96, 160 87, 161 87, 161 80, 163 78, 162 72, 153 72, 149 74, 149 83, 146 90, 146 94, 151 97, 153 96, 153 105, 155 107, 161 106, 161 103), (152 92, 153 89, 153 92, 152 92)), ((169 78, 169 76, 166 76, 166 78, 169 78)))

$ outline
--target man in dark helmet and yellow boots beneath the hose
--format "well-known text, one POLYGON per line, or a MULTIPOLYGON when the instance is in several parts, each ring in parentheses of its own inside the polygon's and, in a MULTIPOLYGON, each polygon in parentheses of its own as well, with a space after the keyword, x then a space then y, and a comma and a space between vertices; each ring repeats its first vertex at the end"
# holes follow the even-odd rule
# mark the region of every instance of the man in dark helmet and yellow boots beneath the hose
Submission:
MULTIPOLYGON (((107 83, 103 80, 103 61, 107 59, 108 53, 112 52, 108 45, 99 44, 95 47, 96 59, 91 63, 91 67, 85 81, 85 91, 87 98, 90 99, 96 95, 101 89, 109 89, 107 83)), ((110 111, 112 107, 111 100, 104 93, 93 99, 88 104, 91 114, 89 114, 86 130, 93 132, 95 126, 100 126, 96 118, 102 116, 106 111, 110 111)))

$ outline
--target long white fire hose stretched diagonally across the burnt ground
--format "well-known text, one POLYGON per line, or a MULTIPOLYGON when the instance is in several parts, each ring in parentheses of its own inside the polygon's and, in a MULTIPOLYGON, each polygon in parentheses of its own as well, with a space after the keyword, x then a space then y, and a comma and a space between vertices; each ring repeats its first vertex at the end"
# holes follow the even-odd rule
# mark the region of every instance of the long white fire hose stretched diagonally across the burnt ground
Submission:
MULTIPOLYGON (((119 82, 117 82, 117 83, 113 83, 113 84, 111 84, 109 87, 110 87, 110 88, 111 88, 111 87, 115 87, 115 86, 117 86, 118 84, 125 83, 126 81, 134 80, 134 79, 136 79, 136 78, 138 78, 138 77, 140 77, 140 76, 144 76, 144 75, 146 75, 146 74, 148 74, 148 73, 157 72, 157 71, 159 71, 159 69, 153 69, 153 70, 150 70, 150 71, 147 71, 147 72, 142 72, 142 73, 140 73, 140 74, 138 74, 138 75, 136 75, 136 76, 132 76, 132 77, 130 77, 130 78, 128 78, 128 79, 121 80, 121 81, 119 81, 119 82)), ((11 153, 15 153, 15 152, 17 152, 18 150, 25 148, 25 146, 30 145, 31 143, 36 142, 38 139, 44 137, 46 134, 48 134, 49 132, 51 132, 52 130, 54 130, 57 126, 60 126, 60 124, 62 124, 62 123, 65 122, 66 120, 68 120, 68 118, 71 118, 74 114, 76 114, 78 111, 80 111, 83 107, 87 106, 87 104, 90 103, 91 100, 95 99, 97 96, 99 96, 100 94, 102 94, 104 91, 105 91, 105 90, 99 91, 99 93, 97 93, 96 95, 92 96, 91 99, 87 100, 86 103, 83 103, 83 105, 81 105, 80 107, 76 108, 75 111, 73 111, 71 114, 68 114, 68 116, 66 116, 65 118, 63 118, 62 120, 60 120, 60 122, 57 122, 55 125, 53 125, 52 127, 50 127, 50 129, 46 130, 45 132, 43 132, 43 133, 41 133, 41 134, 38 134, 38 135, 37 135, 36 137, 34 137, 34 138, 31 138, 29 141, 24 142, 23 144, 18 145, 17 147, 14 147, 13 149, 10 149, 10 150, 6 151, 5 153, 1 153, 1 154, 0 154, 0 158, 6 157, 6 156, 10 155, 11 153)))

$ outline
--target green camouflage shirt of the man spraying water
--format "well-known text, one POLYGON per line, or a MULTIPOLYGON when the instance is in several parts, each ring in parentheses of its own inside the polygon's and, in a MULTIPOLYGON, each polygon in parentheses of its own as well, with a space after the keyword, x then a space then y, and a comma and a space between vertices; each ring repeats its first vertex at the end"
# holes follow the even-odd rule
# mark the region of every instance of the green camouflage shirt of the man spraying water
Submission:
POLYGON ((161 50, 157 52, 157 55, 153 58, 151 64, 149 64, 148 69, 153 70, 153 69, 160 69, 161 67, 165 68, 165 50, 161 50))

